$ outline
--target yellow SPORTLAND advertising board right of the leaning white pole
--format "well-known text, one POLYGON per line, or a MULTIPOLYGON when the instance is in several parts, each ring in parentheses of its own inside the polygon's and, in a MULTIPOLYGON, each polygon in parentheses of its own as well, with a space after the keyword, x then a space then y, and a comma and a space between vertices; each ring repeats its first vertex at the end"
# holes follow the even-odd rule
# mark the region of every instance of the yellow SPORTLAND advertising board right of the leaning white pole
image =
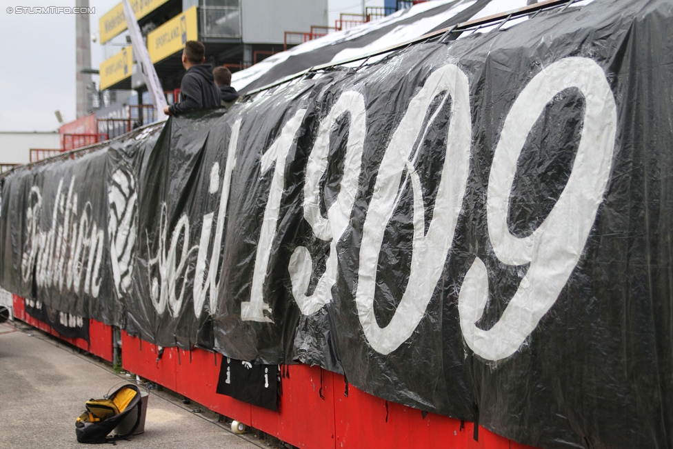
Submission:
POLYGON ((198 39, 197 7, 192 6, 148 34, 150 59, 161 61, 185 48, 185 42, 198 39))

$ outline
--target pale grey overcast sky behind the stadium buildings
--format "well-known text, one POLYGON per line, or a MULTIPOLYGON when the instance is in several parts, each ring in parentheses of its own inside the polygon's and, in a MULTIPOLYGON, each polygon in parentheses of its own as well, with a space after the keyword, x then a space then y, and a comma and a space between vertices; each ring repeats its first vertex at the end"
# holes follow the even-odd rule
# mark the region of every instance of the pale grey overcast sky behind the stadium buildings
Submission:
MULTIPOLYGON (((96 14, 90 17, 92 36, 98 19, 120 0, 90 0, 96 14)), ((245 0, 243 0, 245 1, 245 0)), ((74 6, 74 0, 3 0, 0 9, 0 130, 48 131, 75 119, 75 27, 73 14, 9 14, 8 7, 74 6)), ((383 6, 368 0, 367 6, 383 6)), ((339 12, 358 13, 361 0, 329 0, 328 25, 339 12)), ((91 62, 98 68, 105 59, 99 43, 91 44, 91 62)), ((94 76, 94 81, 98 77, 94 76)))

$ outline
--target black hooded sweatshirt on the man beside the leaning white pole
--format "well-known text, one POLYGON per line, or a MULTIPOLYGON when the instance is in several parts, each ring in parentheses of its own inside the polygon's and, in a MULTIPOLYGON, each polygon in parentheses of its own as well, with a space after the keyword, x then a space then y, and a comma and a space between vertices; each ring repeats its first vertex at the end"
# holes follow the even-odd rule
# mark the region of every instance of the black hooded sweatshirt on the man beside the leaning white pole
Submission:
POLYGON ((171 114, 220 106, 220 90, 215 85, 210 64, 190 67, 180 85, 181 101, 168 107, 171 114))

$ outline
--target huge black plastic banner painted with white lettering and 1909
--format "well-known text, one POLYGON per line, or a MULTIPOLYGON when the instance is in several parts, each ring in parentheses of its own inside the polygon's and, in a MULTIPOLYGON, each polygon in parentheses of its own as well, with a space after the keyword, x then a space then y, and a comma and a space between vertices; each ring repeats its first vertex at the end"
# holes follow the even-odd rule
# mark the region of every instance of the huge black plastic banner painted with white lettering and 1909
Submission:
POLYGON ((671 35, 596 0, 20 170, 0 283, 533 446, 673 446, 671 35))

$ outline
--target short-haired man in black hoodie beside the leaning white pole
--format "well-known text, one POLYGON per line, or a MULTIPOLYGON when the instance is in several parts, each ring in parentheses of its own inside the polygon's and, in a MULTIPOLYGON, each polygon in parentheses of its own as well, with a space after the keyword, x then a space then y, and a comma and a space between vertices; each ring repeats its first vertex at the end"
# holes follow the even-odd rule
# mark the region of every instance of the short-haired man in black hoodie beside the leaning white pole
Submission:
POLYGON ((182 52, 182 66, 187 70, 180 84, 181 101, 163 108, 166 115, 178 115, 190 110, 220 106, 220 90, 212 77, 212 66, 204 64, 205 46, 187 41, 182 52))

